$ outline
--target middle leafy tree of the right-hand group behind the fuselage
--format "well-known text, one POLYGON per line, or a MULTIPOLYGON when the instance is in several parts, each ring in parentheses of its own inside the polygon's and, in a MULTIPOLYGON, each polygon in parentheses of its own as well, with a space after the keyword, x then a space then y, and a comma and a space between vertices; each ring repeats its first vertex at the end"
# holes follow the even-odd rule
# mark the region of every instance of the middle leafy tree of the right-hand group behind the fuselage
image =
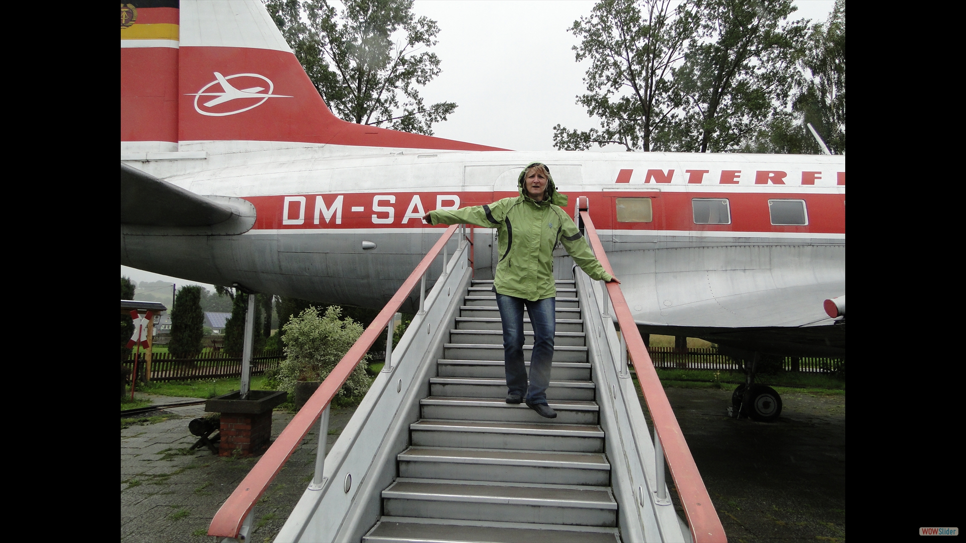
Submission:
POLYGON ((681 117, 666 132, 673 151, 738 151, 773 119, 793 89, 807 21, 787 21, 792 0, 693 0, 695 22, 673 70, 681 117))

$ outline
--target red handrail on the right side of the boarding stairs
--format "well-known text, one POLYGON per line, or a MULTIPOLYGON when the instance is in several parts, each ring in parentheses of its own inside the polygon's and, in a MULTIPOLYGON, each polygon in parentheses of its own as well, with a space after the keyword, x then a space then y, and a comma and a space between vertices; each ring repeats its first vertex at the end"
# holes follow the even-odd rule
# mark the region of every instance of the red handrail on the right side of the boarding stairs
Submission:
MULTIPOLYGON (((581 217, 587 241, 593 247, 597 260, 601 262, 604 270, 613 275, 611 261, 608 260, 604 245, 597 237, 597 229, 590 220, 590 214, 582 211, 581 217)), ((647 409, 651 412, 654 429, 664 447, 668 469, 674 480, 674 486, 677 487, 681 507, 684 508, 684 514, 688 518, 692 538, 695 543, 727 541, 725 527, 718 518, 714 504, 711 503, 708 490, 704 488, 701 474, 697 472, 691 449, 688 448, 684 434, 681 433, 677 417, 670 409, 668 396, 665 394, 664 386, 661 386, 658 373, 654 371, 654 363, 647 354, 647 348, 644 347, 644 340, 640 337, 638 326, 631 316, 631 310, 627 307, 627 300, 624 300, 624 294, 617 283, 607 283, 607 290, 611 296, 617 323, 627 343, 628 356, 634 364, 634 370, 638 373, 638 383, 644 393, 647 409)))

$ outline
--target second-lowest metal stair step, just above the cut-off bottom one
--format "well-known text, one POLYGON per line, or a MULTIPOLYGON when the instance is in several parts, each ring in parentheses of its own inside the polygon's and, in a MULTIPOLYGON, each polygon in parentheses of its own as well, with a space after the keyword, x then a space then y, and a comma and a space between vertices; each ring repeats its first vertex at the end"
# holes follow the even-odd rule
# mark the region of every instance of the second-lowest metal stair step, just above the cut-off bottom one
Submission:
POLYGON ((387 516, 615 527, 610 487, 399 477, 383 491, 387 516))

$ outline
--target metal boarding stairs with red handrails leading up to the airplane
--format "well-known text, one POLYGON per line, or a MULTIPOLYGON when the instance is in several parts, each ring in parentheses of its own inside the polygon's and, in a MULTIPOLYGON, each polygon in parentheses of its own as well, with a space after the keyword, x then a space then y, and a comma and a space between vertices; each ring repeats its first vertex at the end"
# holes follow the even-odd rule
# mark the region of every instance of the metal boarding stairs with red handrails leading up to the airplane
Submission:
MULTIPOLYGON (((610 271, 579 201, 575 220, 610 271)), ((565 254, 554 257, 547 391, 557 416, 505 403, 493 282, 472 279, 473 243, 488 240, 467 230, 442 233, 222 505, 209 535, 248 540, 259 498, 314 424, 325 440, 332 398, 418 292, 419 311, 399 344, 387 343, 384 369, 339 439, 328 453, 319 446, 311 483, 276 542, 726 541, 618 285, 591 280, 565 254), (684 518, 670 500, 666 462, 684 518)), ((528 319, 525 329, 528 360, 528 319)))

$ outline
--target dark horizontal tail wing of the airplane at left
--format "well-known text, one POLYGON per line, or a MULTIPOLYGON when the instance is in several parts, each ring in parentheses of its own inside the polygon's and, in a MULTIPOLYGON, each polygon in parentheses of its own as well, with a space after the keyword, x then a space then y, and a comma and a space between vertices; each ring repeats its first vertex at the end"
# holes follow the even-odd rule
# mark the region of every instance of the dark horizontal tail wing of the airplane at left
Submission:
POLYGON ((121 163, 121 224, 208 226, 232 214, 229 205, 121 163))

